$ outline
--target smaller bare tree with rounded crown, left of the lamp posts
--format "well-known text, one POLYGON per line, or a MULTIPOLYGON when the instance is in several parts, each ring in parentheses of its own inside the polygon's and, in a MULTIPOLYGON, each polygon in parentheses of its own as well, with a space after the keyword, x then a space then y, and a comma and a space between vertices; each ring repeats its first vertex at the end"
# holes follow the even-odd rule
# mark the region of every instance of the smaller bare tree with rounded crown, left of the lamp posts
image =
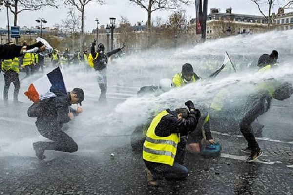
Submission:
POLYGON ((76 12, 71 8, 67 12, 66 20, 62 20, 62 24, 55 24, 57 31, 66 38, 72 41, 72 51, 75 47, 75 38, 79 32, 81 26, 81 16, 78 16, 76 12))

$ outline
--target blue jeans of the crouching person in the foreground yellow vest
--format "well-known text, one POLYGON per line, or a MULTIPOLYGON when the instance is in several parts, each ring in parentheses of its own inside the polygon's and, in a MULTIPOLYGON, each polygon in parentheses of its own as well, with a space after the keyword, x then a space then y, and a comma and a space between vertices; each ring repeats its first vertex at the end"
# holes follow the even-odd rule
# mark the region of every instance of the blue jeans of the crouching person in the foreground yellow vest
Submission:
POLYGON ((174 180, 186 179, 189 173, 189 170, 178 162, 174 162, 173 166, 160 164, 156 166, 152 171, 154 172, 153 175, 155 178, 163 176, 165 179, 174 180))

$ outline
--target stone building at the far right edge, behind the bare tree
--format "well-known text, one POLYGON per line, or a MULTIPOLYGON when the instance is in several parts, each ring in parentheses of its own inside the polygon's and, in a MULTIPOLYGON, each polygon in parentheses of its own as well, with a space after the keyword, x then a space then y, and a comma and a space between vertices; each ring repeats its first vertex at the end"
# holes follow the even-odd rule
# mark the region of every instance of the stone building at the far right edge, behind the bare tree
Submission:
POLYGON ((277 30, 293 29, 293 12, 284 13, 284 9, 279 8, 278 15, 273 20, 273 24, 277 30))

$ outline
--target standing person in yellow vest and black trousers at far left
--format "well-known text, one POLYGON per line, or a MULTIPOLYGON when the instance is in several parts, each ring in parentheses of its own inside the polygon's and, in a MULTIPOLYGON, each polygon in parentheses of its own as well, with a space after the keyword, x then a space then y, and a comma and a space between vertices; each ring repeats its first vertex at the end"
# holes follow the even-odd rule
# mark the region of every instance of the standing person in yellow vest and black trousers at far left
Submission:
POLYGON ((21 103, 18 101, 18 94, 20 91, 20 79, 19 79, 19 59, 14 58, 4 60, 2 63, 2 70, 5 72, 4 75, 4 103, 7 105, 8 104, 8 91, 10 84, 13 83, 14 85, 14 96, 13 96, 13 101, 14 103, 21 103))

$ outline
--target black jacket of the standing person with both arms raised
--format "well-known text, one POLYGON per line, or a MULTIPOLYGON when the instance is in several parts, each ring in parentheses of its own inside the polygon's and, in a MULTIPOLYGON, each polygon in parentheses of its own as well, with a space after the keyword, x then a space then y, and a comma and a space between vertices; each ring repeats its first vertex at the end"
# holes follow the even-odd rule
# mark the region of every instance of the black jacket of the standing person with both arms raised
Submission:
MULTIPOLYGON (((94 59, 94 69, 95 70, 103 70, 107 67, 108 64, 108 58, 116 53, 121 51, 120 48, 114 49, 106 54, 99 54, 97 59, 94 59)), ((92 46, 91 48, 91 55, 93 58, 97 56, 97 52, 95 50, 95 46, 92 46)))

